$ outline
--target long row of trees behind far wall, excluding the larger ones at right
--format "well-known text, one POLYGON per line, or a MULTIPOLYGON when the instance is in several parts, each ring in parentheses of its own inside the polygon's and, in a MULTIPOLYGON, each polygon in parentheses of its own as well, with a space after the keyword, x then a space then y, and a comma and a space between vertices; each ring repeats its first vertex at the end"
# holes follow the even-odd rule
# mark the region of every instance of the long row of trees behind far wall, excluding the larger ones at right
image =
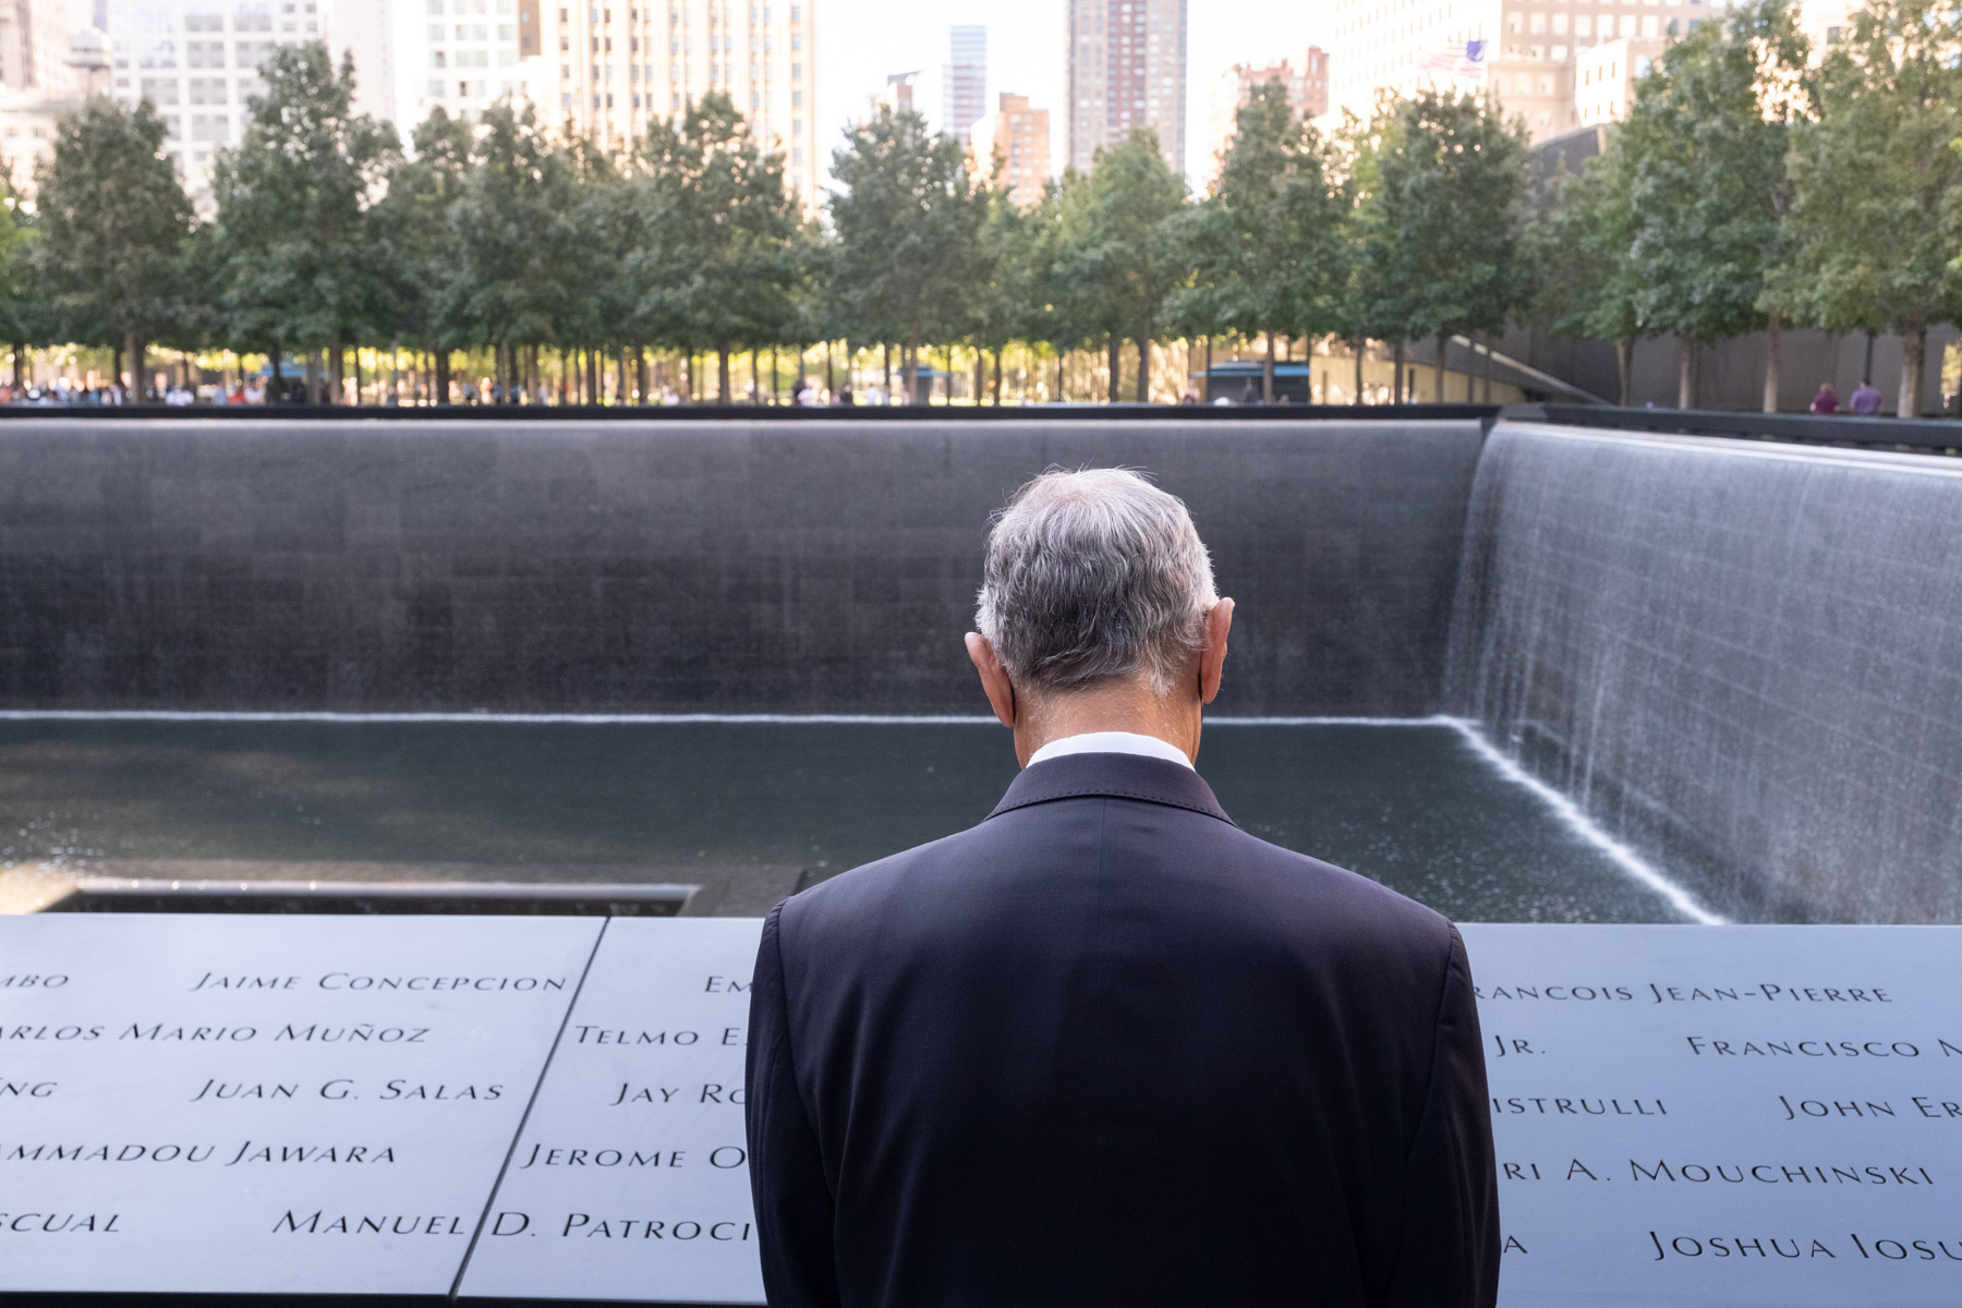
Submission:
MULTIPOLYGON (((977 178, 916 114, 881 112, 834 155, 828 212, 804 216, 781 159, 724 96, 608 157, 498 104, 436 110, 404 151, 353 112, 353 71, 281 51, 196 222, 147 106, 96 100, 61 124, 33 214, 10 206, 4 326, 18 343, 147 343, 283 357, 428 351, 447 394, 457 349, 489 349, 510 390, 540 351, 644 367, 844 341, 920 353, 1012 341, 1118 351, 1173 337, 1411 341, 1495 329, 1523 302, 1523 137, 1472 98, 1426 94, 1324 137, 1260 88, 1216 194, 1191 202, 1148 131, 1067 173, 1032 210, 977 178)), ((1360 373, 1360 365, 1358 365, 1360 373)), ((1399 369, 1399 378, 1403 371, 1399 369)), ((1271 371, 1267 378, 1271 394, 1271 371)), ((589 386, 596 394, 598 386, 589 386)), ((642 386, 645 392, 645 386, 642 386)))

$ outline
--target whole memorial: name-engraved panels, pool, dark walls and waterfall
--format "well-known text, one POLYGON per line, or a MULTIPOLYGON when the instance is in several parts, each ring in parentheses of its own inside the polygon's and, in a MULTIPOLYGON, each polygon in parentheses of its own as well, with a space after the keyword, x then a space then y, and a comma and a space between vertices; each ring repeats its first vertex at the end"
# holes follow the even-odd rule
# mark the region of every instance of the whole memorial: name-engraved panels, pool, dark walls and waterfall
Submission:
POLYGON ((1222 804, 1466 924, 1501 1302, 1956 1302, 1962 467, 1542 418, 6 422, 0 1294, 759 1302, 757 916, 1122 463, 1222 804))

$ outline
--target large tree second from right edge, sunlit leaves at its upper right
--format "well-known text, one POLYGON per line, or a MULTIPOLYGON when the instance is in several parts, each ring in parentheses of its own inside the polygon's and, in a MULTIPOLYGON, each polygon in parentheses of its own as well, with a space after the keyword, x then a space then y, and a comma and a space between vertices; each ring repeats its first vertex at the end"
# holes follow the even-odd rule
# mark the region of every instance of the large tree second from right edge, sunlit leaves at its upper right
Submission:
POLYGON ((1621 129, 1640 318, 1674 331, 1678 404, 1695 402, 1695 343, 1766 326, 1766 273, 1781 257, 1785 149, 1805 37, 1783 0, 1711 20, 1636 84, 1621 129))

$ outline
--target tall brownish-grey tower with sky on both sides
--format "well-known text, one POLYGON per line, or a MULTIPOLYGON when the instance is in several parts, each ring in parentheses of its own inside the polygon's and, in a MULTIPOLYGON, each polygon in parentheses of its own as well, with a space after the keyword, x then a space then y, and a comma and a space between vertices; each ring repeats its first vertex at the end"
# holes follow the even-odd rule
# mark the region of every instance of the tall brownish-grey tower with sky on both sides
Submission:
POLYGON ((1185 0, 1069 0, 1069 167, 1132 127, 1185 173, 1185 0))

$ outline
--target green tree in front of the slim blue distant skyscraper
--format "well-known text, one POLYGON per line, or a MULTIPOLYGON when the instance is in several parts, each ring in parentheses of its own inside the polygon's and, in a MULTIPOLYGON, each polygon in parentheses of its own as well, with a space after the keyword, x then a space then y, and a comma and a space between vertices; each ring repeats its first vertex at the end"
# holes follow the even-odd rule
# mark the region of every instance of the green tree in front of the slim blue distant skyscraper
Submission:
POLYGON ((912 110, 879 112, 832 155, 832 294, 852 320, 891 324, 903 341, 906 398, 920 404, 920 345, 965 335, 985 198, 959 141, 912 110))

